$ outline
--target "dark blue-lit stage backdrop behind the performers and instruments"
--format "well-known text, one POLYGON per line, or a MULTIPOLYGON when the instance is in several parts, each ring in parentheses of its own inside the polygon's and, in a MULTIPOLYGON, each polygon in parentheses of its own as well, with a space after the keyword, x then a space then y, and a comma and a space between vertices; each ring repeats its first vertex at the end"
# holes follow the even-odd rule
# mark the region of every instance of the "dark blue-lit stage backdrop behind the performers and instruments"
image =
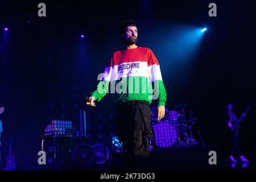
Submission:
POLYGON ((225 151, 225 105, 232 102, 238 117, 252 105, 240 139, 243 154, 255 158, 253 1, 43 1, 47 16, 39 18, 40 2, 0 1, 2 158, 12 138, 17 168, 36 169, 44 127, 52 119, 77 122, 83 109, 89 139, 110 145, 116 98, 109 94, 93 109, 83 98, 96 89, 111 54, 122 48, 118 26, 126 18, 138 24, 138 45, 151 48, 159 60, 166 107, 189 102, 205 144, 225 151), (208 16, 211 2, 217 17, 208 16), (171 44, 179 40, 179 30, 204 26, 208 31, 196 49, 191 46, 193 53, 184 52, 186 41, 179 48, 171 44))

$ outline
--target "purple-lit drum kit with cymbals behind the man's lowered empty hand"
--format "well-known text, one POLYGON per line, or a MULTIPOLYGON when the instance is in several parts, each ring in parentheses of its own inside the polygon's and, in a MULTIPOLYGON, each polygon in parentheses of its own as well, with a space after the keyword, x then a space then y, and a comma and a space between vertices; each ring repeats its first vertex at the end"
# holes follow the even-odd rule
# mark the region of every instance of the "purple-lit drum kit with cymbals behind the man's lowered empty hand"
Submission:
POLYGON ((188 103, 181 103, 175 105, 176 110, 169 111, 166 108, 166 114, 160 121, 157 121, 158 108, 151 107, 151 147, 189 147, 200 144, 192 134, 192 127, 197 118, 193 117, 190 106, 188 103))

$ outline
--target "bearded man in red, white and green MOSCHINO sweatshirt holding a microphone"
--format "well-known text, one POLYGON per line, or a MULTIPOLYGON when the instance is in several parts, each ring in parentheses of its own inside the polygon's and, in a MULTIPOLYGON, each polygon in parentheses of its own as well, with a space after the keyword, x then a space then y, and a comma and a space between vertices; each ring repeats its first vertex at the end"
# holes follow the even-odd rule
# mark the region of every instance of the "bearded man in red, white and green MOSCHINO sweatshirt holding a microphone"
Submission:
POLYGON ((158 100, 158 120, 165 114, 166 90, 159 62, 151 49, 136 45, 138 30, 133 20, 126 20, 119 30, 125 49, 113 53, 97 90, 90 96, 90 105, 100 101, 107 92, 119 94, 118 138, 129 169, 145 169, 148 157, 152 100, 158 100), (152 87, 154 85, 154 88, 152 87))

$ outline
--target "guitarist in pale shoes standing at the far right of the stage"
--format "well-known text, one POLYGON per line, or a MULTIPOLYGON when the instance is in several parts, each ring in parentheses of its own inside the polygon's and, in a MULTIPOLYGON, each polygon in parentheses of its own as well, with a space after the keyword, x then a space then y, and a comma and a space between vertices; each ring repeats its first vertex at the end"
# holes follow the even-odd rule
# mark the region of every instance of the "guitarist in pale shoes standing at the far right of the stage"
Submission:
MULTIPOLYGON (((246 113, 243 113, 241 118, 245 117, 246 113)), ((240 156, 240 160, 241 162, 249 162, 248 159, 245 159, 243 157, 243 155, 241 155, 241 151, 240 148, 238 146, 238 127, 234 127, 236 126, 236 122, 237 117, 236 114, 233 113, 233 106, 232 104, 228 104, 226 106, 226 111, 225 111, 225 117, 226 117, 226 126, 228 127, 228 133, 229 133, 229 138, 230 138, 230 142, 231 142, 231 151, 230 151, 230 156, 229 156, 229 160, 230 162, 236 163, 237 160, 234 159, 234 154, 236 153, 237 156, 240 156)))

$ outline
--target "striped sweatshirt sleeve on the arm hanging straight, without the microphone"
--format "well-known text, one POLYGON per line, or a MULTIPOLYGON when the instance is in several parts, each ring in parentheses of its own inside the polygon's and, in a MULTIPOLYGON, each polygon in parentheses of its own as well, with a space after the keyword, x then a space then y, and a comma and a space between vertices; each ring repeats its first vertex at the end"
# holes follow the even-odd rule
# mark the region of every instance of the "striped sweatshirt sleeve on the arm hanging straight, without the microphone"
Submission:
POLYGON ((164 106, 167 97, 166 89, 164 88, 158 59, 156 59, 151 49, 148 49, 148 73, 149 81, 154 82, 154 92, 158 96, 158 105, 164 106))

